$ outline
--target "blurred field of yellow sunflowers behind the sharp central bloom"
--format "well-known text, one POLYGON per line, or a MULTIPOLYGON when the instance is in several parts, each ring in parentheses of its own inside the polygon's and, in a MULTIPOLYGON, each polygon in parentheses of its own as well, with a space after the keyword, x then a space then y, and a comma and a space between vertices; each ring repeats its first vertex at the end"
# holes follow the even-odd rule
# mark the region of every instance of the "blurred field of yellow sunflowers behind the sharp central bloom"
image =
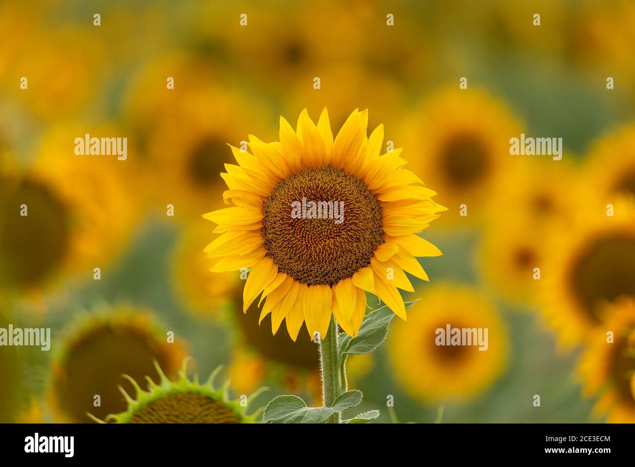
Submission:
POLYGON ((0 30, 0 328, 51 328, 50 351, 0 347, 0 422, 121 412, 121 374, 185 355, 234 397, 271 388, 255 405, 319 401, 316 345, 243 315, 201 214, 227 144, 325 106, 334 131, 369 109, 448 207, 408 322, 349 358, 363 409, 635 422, 632 1, 3 1, 0 30), (87 133, 127 158, 76 155, 87 133), (562 159, 511 155, 521 133, 562 159), (434 346, 445 323, 488 350, 434 346))

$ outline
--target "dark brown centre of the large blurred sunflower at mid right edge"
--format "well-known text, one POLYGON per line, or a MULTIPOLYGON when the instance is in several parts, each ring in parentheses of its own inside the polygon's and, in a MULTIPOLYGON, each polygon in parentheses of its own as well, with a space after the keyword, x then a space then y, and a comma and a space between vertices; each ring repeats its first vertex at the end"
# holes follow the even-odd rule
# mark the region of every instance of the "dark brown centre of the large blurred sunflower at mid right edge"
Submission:
POLYGON ((598 238, 582 251, 571 271, 574 296, 599 322, 602 301, 635 297, 635 237, 613 233, 598 238))

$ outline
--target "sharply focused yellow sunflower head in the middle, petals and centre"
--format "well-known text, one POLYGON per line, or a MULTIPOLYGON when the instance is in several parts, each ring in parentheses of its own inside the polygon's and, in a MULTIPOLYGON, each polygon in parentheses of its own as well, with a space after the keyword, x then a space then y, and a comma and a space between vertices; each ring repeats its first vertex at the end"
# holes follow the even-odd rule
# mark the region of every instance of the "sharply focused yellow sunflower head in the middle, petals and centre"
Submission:
POLYGON ((232 147, 238 165, 221 176, 236 206, 203 215, 220 233, 205 252, 218 259, 212 271, 251 268, 243 311, 262 292, 260 321, 271 313, 273 334, 286 320, 295 341, 306 321, 311 339, 324 337, 332 313, 355 336, 365 290, 405 319, 398 288, 413 288, 404 270, 427 279, 415 256, 441 254, 416 233, 445 208, 403 168, 401 149, 380 156, 384 127, 367 138, 367 122, 368 111, 355 110, 333 139, 326 109, 317 126, 303 111, 297 132, 280 118, 280 142, 250 136, 253 154, 232 147), (299 213, 307 200, 324 215, 299 213))

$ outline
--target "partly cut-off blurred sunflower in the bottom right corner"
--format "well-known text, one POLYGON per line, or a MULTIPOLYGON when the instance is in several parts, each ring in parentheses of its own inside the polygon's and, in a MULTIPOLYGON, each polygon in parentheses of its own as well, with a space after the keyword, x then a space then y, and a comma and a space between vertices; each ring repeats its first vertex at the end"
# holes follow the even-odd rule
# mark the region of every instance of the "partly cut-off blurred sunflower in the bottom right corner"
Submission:
POLYGON ((578 365, 583 392, 599 395, 594 414, 608 414, 610 423, 635 423, 635 301, 618 300, 605 314, 578 365))

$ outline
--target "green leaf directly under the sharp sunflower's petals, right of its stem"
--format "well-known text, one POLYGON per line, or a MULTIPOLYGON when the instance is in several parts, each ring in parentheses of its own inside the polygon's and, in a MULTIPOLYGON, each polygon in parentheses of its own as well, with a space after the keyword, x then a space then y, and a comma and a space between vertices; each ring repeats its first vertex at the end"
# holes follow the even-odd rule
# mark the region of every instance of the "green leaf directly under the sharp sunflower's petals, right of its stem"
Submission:
MULTIPOLYGON (((418 299, 406 303, 406 309, 413 306, 417 301, 418 299)), ((356 337, 351 337, 348 334, 340 335, 340 362, 345 355, 370 353, 378 348, 385 341, 388 334, 388 325, 395 316, 390 308, 382 306, 382 308, 371 311, 366 315, 356 337)))

